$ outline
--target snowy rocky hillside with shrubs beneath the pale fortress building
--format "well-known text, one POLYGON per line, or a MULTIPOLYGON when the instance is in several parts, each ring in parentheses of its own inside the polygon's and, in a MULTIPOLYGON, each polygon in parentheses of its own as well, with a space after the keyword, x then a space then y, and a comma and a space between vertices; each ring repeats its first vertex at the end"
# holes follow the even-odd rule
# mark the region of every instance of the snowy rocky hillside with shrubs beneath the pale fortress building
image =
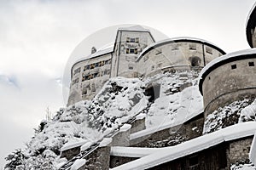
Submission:
POLYGON ((141 111, 146 112, 147 128, 182 122, 191 113, 202 110, 197 76, 196 72, 189 71, 159 74, 145 80, 112 78, 94 99, 61 108, 52 121, 42 121, 26 144, 26 150, 16 150, 9 155, 6 167, 55 169, 67 161, 60 158, 61 151, 75 144, 90 147, 141 111), (147 93, 148 87, 154 84, 161 87, 154 89, 155 94, 160 94, 155 96, 157 99, 147 93))

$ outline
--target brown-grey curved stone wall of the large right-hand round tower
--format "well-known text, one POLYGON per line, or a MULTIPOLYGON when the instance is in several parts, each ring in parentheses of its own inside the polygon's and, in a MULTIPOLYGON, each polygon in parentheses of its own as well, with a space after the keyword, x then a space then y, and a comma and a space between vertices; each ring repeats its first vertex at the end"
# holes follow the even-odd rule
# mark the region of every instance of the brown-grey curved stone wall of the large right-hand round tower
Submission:
POLYGON ((219 66, 207 75, 202 91, 205 117, 218 107, 238 99, 252 98, 256 94, 256 59, 237 60, 219 66), (255 66, 249 66, 252 62, 255 66))

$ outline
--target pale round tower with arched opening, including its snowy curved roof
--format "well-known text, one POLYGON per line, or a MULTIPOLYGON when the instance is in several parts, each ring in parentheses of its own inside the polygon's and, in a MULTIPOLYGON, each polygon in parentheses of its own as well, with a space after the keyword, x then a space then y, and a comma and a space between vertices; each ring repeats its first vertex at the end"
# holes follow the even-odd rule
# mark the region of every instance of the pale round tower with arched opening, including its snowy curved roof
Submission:
POLYGON ((154 42, 138 56, 140 77, 150 77, 160 71, 201 70, 207 63, 225 52, 212 42, 195 37, 169 38, 154 42))

